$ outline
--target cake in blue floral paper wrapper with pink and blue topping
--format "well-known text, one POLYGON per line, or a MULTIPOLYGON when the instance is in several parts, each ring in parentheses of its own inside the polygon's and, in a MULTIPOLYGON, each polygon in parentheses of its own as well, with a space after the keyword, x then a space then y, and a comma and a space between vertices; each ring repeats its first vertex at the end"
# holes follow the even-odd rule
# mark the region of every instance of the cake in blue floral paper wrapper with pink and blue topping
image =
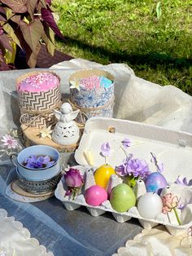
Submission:
POLYGON ((70 101, 74 108, 80 109, 76 121, 84 124, 89 117, 112 117, 114 105, 114 77, 99 69, 87 69, 73 73, 69 78, 70 101), (97 82, 98 77, 102 79, 97 82), (107 78, 107 79, 106 79, 107 78), (83 80, 92 80, 85 82, 83 80), (107 85, 105 82, 111 81, 107 85), (72 82, 78 83, 72 86, 72 82))

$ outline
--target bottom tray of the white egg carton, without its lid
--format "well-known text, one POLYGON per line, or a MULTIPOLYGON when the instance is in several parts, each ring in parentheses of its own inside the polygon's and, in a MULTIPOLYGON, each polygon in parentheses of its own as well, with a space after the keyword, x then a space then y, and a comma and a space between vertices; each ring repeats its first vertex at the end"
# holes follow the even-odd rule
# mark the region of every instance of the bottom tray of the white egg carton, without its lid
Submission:
MULTIPOLYGON (((141 223, 142 227, 146 229, 151 229, 152 227, 156 227, 159 224, 163 224, 168 232, 172 236, 179 236, 188 231, 188 229, 192 226, 192 188, 183 186, 176 183, 168 184, 167 188, 164 188, 162 194, 172 192, 175 195, 181 198, 181 202, 186 205, 183 210, 177 209, 177 213, 179 218, 181 219, 182 225, 178 225, 177 218, 174 212, 170 212, 168 214, 159 214, 156 218, 143 218, 137 211, 137 206, 133 206, 128 211, 119 213, 116 210, 112 209, 111 203, 109 200, 104 201, 99 206, 88 205, 85 201, 84 192, 85 189, 93 186, 94 182, 94 172, 89 170, 89 166, 73 166, 72 168, 80 170, 81 175, 85 178, 85 184, 79 195, 76 196, 75 199, 72 199, 72 196, 65 196, 65 193, 68 191, 68 187, 66 186, 64 179, 61 179, 58 183, 58 186, 55 190, 55 196, 59 201, 63 202, 64 207, 67 210, 76 210, 81 206, 85 206, 94 217, 98 217, 106 212, 111 212, 113 217, 116 219, 118 223, 124 223, 129 221, 131 218, 137 218, 139 223, 141 223)), ((117 175, 111 175, 111 179, 107 185, 107 188, 114 188, 117 184, 122 183, 123 180, 118 178, 117 175), (114 179, 115 178, 115 179, 114 179)), ((137 198, 141 194, 137 194, 137 198)))

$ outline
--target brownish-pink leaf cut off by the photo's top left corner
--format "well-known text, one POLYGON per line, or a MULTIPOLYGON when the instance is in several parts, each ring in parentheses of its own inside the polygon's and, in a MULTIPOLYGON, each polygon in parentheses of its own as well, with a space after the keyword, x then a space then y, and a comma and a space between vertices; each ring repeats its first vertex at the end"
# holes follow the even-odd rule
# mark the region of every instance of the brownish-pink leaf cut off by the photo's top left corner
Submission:
POLYGON ((10 7, 13 12, 24 13, 27 10, 27 2, 30 0, 2 0, 1 2, 10 7))

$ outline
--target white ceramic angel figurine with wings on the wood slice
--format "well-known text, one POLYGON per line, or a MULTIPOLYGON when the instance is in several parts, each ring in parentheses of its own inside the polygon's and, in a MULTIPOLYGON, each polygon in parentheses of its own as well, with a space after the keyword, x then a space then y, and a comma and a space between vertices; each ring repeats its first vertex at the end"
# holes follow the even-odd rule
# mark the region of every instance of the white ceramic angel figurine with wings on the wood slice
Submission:
POLYGON ((77 143, 80 138, 80 130, 73 121, 79 110, 72 111, 72 106, 68 103, 61 105, 60 111, 54 110, 58 122, 53 130, 52 140, 62 145, 77 143))

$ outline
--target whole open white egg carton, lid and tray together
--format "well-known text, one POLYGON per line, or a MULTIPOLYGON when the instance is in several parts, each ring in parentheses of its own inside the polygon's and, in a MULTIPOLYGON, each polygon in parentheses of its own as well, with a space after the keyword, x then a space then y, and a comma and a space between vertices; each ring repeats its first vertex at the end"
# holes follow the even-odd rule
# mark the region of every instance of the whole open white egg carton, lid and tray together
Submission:
MULTIPOLYGON (((94 166, 94 170, 96 167, 102 166, 104 163, 103 157, 99 152, 101 151, 101 144, 107 142, 111 147, 111 156, 108 157, 107 162, 111 166, 119 166, 125 158, 123 150, 120 149, 120 142, 124 138, 129 138, 132 143, 128 153, 133 153, 134 157, 145 159, 151 171, 155 171, 155 166, 151 163, 150 152, 155 154, 159 162, 164 163, 163 174, 169 183, 166 192, 173 192, 181 197, 183 204, 187 204, 183 210, 177 209, 182 225, 178 225, 173 211, 168 214, 159 214, 153 219, 147 219, 142 218, 136 206, 133 206, 127 212, 119 213, 111 208, 108 200, 99 206, 88 205, 85 202, 83 192, 94 184, 91 175, 90 177, 86 176, 85 186, 75 200, 72 200, 71 196, 65 196, 66 188, 62 181, 59 182, 55 190, 55 196, 63 202, 67 210, 76 210, 83 205, 94 217, 98 217, 105 212, 111 212, 118 223, 137 218, 142 227, 146 229, 163 224, 173 236, 187 232, 192 226, 192 186, 175 184, 174 181, 179 175, 186 177, 188 180, 191 179, 192 135, 134 121, 92 117, 85 124, 84 134, 79 148, 75 152, 76 162, 80 165, 76 168, 81 170, 81 174, 87 174, 87 170, 91 167, 90 162, 94 166), (87 157, 87 152, 91 152, 91 161, 87 157)), ((120 181, 117 183, 120 183, 120 181)))

